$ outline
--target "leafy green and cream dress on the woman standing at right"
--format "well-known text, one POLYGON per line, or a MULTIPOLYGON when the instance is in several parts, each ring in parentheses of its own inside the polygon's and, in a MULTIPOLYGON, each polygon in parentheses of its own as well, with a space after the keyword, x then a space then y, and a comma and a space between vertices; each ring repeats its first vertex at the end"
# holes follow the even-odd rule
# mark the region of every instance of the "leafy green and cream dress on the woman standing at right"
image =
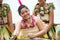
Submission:
MULTIPOLYGON (((49 24, 49 11, 52 7, 54 9, 53 3, 47 3, 48 7, 40 6, 40 12, 37 13, 37 16, 43 21, 44 26, 48 26, 49 24)), ((36 8, 35 8, 36 9, 36 8)), ((49 38, 51 40, 55 40, 55 27, 52 25, 52 28, 45 34, 44 38, 49 38)))

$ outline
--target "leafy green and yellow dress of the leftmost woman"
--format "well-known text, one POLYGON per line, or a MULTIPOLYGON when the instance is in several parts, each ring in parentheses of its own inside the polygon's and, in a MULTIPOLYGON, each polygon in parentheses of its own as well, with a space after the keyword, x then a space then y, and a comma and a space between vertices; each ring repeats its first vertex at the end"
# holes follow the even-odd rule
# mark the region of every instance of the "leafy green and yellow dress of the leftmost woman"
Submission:
POLYGON ((8 4, 3 4, 0 10, 0 40, 4 37, 6 40, 9 40, 10 36, 6 27, 8 27, 7 12, 10 11, 8 4))

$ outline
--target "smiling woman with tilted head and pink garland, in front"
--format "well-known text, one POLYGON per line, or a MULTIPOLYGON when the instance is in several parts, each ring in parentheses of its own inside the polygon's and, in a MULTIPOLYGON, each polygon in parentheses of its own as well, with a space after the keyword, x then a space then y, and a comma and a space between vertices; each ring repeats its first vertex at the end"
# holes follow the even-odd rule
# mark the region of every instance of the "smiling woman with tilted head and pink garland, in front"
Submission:
POLYGON ((14 40, 16 36, 19 39, 43 37, 42 35, 47 32, 47 28, 43 27, 42 21, 38 17, 30 15, 29 9, 25 5, 19 6, 18 12, 22 20, 17 24, 11 40, 14 40))

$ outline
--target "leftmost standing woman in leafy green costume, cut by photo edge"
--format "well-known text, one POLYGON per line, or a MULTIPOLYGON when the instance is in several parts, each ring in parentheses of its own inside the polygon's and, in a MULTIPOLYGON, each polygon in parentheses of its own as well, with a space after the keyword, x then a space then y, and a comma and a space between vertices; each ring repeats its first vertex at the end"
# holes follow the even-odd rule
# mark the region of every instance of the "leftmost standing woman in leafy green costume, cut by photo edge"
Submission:
POLYGON ((3 0, 0 0, 0 40, 9 40, 9 32, 13 31, 12 14, 10 6, 2 2, 3 0))

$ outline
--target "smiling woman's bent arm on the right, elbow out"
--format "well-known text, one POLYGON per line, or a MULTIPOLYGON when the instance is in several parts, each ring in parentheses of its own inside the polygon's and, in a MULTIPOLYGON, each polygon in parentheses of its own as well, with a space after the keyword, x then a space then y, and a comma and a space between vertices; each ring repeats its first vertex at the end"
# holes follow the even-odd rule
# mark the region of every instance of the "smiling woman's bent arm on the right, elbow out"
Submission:
POLYGON ((47 30, 45 29, 43 25, 43 21, 40 18, 37 18, 37 27, 39 28, 40 31, 35 34, 35 37, 42 36, 47 32, 47 30))

